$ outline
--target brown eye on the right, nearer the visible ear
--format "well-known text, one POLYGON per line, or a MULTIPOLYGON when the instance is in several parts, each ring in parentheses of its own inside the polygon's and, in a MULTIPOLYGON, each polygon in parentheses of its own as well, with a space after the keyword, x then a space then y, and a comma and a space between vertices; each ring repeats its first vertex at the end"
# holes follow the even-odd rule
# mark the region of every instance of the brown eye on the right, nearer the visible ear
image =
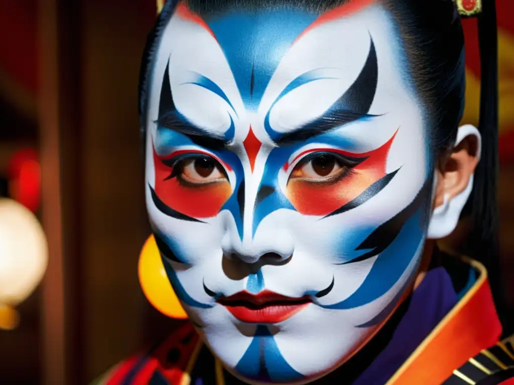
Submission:
POLYGON ((341 159, 334 155, 323 154, 302 161, 296 165, 291 173, 291 178, 306 180, 332 180, 342 175, 347 167, 341 159))

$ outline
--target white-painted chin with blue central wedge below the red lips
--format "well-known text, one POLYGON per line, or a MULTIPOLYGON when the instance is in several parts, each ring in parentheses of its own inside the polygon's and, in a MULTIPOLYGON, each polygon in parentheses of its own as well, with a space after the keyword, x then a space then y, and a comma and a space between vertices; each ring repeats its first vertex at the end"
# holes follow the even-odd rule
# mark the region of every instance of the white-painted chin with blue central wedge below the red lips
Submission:
POLYGON ((202 317, 206 326, 199 332, 224 367, 250 384, 314 381, 343 365, 380 329, 356 328, 358 312, 344 315, 315 304, 268 324, 242 322, 224 306, 215 308, 202 317))

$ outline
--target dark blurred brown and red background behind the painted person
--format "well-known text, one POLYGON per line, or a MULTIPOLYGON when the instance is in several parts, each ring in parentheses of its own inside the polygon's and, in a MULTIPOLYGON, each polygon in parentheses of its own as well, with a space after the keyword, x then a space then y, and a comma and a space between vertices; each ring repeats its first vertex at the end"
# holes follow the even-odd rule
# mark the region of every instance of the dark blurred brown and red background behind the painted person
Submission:
MULTIPOLYGON (((501 256, 513 309, 514 2, 497 4, 501 256)), ((50 251, 19 326, 0 330, 2 384, 86 384, 173 328, 137 277, 150 234, 137 84, 155 12, 153 0, 0 0, 0 196, 33 211, 50 251)), ((465 32, 464 123, 477 125, 476 22, 465 32)))

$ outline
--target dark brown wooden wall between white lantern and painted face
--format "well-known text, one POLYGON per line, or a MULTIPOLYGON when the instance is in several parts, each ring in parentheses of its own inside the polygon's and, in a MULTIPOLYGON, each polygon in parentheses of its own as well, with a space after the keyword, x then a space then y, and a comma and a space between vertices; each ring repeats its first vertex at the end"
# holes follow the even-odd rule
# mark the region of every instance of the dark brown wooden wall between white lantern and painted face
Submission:
POLYGON ((80 385, 170 325, 150 309, 137 278, 150 234, 137 85, 155 4, 40 0, 40 13, 43 223, 62 233, 50 240, 43 287, 45 383, 80 385), (52 220, 59 213, 61 223, 52 220))

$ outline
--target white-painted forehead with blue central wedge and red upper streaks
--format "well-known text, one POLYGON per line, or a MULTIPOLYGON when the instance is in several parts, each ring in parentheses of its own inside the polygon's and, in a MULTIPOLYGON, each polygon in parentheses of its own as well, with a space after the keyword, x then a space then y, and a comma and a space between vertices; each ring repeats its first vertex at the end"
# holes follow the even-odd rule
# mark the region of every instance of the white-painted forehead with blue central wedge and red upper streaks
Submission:
POLYGON ((282 8, 199 16, 181 3, 157 50, 149 120, 157 118, 168 68, 176 108, 195 124, 223 131, 227 112, 241 120, 254 112, 263 117, 273 107, 271 119, 288 130, 341 97, 358 78, 371 45, 378 81, 369 112, 405 114, 409 106, 419 112, 391 17, 374 1, 354 1, 322 15, 282 8))

